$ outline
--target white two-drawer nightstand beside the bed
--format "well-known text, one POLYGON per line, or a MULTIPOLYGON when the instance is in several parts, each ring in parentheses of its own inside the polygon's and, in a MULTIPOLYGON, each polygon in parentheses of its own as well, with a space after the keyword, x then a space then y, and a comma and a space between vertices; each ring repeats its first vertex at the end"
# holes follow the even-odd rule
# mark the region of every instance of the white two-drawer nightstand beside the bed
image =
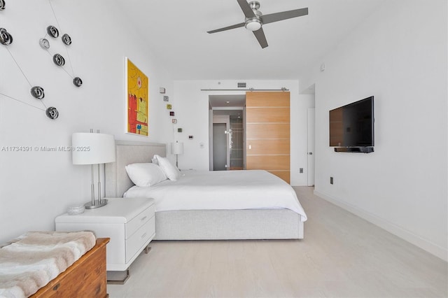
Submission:
POLYGON ((154 200, 145 198, 107 198, 101 208, 84 213, 64 213, 55 219, 56 231, 90 230, 97 237, 109 237, 106 250, 107 271, 127 271, 155 236, 154 200))

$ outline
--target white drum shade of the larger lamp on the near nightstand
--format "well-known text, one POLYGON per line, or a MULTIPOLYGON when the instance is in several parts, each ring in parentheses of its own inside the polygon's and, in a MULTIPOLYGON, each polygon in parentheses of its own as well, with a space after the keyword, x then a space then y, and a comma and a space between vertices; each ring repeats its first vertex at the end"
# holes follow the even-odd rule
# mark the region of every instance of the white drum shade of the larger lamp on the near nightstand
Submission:
POLYGON ((76 132, 71 136, 73 164, 115 162, 115 140, 111 134, 76 132))

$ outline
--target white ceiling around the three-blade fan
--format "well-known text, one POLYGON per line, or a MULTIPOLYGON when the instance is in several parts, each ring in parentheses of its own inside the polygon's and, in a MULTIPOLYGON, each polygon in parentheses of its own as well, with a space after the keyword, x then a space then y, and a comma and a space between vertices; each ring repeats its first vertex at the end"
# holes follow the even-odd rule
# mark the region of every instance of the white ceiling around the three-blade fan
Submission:
POLYGON ((309 15, 265 24, 265 49, 244 27, 236 0, 127 0, 127 15, 175 80, 297 79, 385 0, 259 0, 263 14, 309 8, 309 15))

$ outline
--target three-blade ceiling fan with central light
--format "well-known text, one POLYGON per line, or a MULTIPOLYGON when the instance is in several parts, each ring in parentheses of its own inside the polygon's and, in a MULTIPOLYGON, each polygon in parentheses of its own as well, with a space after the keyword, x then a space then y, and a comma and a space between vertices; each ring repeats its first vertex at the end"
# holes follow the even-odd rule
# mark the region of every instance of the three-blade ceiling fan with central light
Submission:
POLYGON ((287 20, 293 17, 301 17, 302 15, 308 14, 308 8, 300 8, 295 10, 282 11, 281 13, 271 13, 269 15, 262 15, 260 8, 260 3, 258 1, 237 0, 241 10, 243 10, 246 20, 239 24, 234 24, 232 26, 223 27, 216 30, 207 31, 207 33, 216 33, 225 30, 235 29, 239 27, 246 27, 246 29, 253 31, 253 35, 257 38, 258 43, 260 43, 261 48, 267 47, 267 41, 265 32, 262 29, 263 24, 269 24, 272 22, 279 22, 281 20, 287 20))

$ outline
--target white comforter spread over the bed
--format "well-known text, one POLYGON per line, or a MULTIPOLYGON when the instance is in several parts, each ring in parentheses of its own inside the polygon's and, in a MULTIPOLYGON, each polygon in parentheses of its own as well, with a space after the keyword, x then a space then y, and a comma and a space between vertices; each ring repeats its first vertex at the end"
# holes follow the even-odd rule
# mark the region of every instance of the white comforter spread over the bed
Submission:
POLYGON ((293 187, 267 171, 181 173, 177 181, 133 186, 123 197, 151 197, 155 211, 288 208, 307 220, 293 187))

